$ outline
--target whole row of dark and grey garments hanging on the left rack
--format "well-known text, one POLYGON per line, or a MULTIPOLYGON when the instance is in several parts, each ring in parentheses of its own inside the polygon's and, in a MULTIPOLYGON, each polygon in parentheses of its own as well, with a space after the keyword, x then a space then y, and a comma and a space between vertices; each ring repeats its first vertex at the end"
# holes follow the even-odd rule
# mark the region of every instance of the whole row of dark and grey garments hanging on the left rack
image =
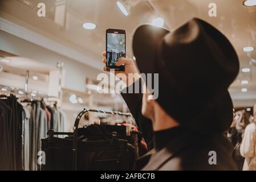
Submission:
POLYGON ((65 114, 56 107, 54 110, 58 117, 42 101, 20 104, 13 95, 0 97, 0 170, 39 169, 40 139, 47 137, 54 123, 58 123, 58 131, 66 129, 65 114))

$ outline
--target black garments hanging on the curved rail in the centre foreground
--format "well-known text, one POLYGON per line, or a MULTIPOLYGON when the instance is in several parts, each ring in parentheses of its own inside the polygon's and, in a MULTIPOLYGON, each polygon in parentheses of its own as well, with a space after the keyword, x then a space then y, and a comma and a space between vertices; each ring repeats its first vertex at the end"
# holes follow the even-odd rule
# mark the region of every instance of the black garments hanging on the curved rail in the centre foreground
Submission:
MULTIPOLYGON (((132 170, 138 154, 141 133, 132 131, 127 136, 126 126, 90 125, 78 129, 78 170, 132 170), (115 137, 113 137, 115 136, 115 137)), ((43 170, 72 169, 73 135, 67 138, 42 139, 46 152, 43 170)))

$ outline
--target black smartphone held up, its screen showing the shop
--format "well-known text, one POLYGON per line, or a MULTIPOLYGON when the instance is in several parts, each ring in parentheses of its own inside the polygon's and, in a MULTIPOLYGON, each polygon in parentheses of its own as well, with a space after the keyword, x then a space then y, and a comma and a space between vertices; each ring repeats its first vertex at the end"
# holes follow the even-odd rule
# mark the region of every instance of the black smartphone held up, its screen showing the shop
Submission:
POLYGON ((125 30, 111 29, 106 30, 106 67, 108 70, 115 69, 124 71, 124 65, 116 66, 116 62, 125 57, 126 54, 125 30))

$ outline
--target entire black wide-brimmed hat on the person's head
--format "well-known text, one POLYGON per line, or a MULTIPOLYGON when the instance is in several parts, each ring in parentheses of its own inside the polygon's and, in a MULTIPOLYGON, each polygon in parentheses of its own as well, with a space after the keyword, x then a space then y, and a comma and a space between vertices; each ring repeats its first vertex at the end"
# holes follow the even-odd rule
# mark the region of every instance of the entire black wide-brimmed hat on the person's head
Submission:
POLYGON ((239 61, 220 31, 198 18, 173 32, 143 25, 133 35, 133 53, 140 73, 159 73, 156 101, 177 122, 206 133, 230 126, 233 103, 227 89, 239 61))

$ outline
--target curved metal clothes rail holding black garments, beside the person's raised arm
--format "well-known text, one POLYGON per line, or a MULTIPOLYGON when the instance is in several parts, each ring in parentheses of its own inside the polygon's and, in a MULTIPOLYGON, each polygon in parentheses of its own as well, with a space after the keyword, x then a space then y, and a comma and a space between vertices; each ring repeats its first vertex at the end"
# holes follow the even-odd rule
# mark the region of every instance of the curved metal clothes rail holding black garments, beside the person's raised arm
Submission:
POLYGON ((132 117, 131 113, 121 113, 119 111, 104 111, 104 110, 97 110, 97 109, 84 109, 81 111, 78 116, 76 117, 75 124, 74 124, 74 132, 73 132, 73 170, 76 171, 76 159, 77 159, 77 154, 78 154, 78 125, 80 122, 80 119, 82 116, 86 113, 90 112, 96 112, 96 113, 105 113, 105 114, 116 114, 116 115, 125 115, 127 117, 132 117))

